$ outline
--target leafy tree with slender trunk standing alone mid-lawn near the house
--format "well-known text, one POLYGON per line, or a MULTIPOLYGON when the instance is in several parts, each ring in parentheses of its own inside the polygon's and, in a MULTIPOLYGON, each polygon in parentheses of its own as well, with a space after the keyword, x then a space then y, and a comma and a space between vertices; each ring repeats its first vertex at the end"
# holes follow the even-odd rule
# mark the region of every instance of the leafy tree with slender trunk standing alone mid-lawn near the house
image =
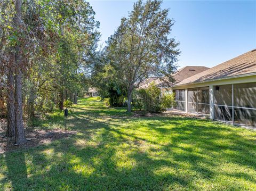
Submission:
POLYGON ((150 76, 173 80, 171 74, 180 52, 179 43, 170 38, 173 20, 168 18, 168 12, 161 10, 161 1, 140 0, 107 41, 110 64, 126 85, 128 112, 133 90, 143 80, 150 76))

